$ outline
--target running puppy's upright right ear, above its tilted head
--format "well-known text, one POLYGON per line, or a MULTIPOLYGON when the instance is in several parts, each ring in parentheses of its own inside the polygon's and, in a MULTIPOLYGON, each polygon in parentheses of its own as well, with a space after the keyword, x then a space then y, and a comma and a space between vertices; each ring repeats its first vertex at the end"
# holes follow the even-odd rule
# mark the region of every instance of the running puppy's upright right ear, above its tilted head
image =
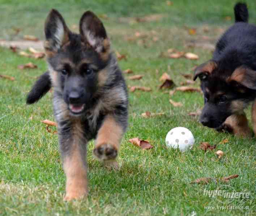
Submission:
POLYGON ((98 53, 106 53, 110 49, 107 32, 100 19, 90 11, 84 13, 80 19, 80 34, 85 41, 98 53))

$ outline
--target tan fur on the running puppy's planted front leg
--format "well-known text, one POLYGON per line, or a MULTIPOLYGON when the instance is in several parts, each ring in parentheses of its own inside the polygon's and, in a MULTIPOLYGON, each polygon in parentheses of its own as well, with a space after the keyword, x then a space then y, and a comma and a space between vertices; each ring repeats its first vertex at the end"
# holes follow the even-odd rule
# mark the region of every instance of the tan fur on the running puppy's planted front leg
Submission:
POLYGON ((73 142, 70 144, 72 148, 63 159, 63 169, 67 177, 64 200, 83 198, 88 193, 85 155, 81 154, 81 145, 86 145, 86 142, 83 139, 80 121, 74 122, 73 129, 73 142))

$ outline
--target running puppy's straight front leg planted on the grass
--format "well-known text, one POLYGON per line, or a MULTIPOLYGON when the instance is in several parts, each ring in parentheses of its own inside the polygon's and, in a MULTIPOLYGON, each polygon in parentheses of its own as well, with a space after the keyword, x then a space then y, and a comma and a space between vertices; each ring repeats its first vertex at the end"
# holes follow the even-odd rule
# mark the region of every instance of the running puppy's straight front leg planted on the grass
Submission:
MULTIPOLYGON (((58 124, 59 127, 60 124, 58 124)), ((86 139, 79 122, 58 128, 63 169, 66 174, 64 200, 83 198, 88 193, 86 139)))

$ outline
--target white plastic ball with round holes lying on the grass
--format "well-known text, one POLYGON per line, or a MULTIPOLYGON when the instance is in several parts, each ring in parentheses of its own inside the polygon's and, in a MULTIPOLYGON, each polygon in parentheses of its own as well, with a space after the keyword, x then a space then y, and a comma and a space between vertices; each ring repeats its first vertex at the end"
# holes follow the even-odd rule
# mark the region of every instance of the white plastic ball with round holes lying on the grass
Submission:
POLYGON ((191 131, 187 128, 172 128, 166 135, 165 143, 168 147, 179 148, 180 151, 186 151, 192 148, 195 139, 191 131))

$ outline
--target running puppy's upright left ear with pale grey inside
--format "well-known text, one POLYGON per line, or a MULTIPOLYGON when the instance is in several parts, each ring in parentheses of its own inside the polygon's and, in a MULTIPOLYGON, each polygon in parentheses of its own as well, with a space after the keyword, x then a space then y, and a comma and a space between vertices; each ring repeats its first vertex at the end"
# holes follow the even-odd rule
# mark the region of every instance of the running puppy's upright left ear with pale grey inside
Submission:
POLYGON ((48 14, 44 24, 44 34, 46 38, 44 48, 50 52, 57 52, 69 40, 69 29, 61 14, 55 9, 48 14))

